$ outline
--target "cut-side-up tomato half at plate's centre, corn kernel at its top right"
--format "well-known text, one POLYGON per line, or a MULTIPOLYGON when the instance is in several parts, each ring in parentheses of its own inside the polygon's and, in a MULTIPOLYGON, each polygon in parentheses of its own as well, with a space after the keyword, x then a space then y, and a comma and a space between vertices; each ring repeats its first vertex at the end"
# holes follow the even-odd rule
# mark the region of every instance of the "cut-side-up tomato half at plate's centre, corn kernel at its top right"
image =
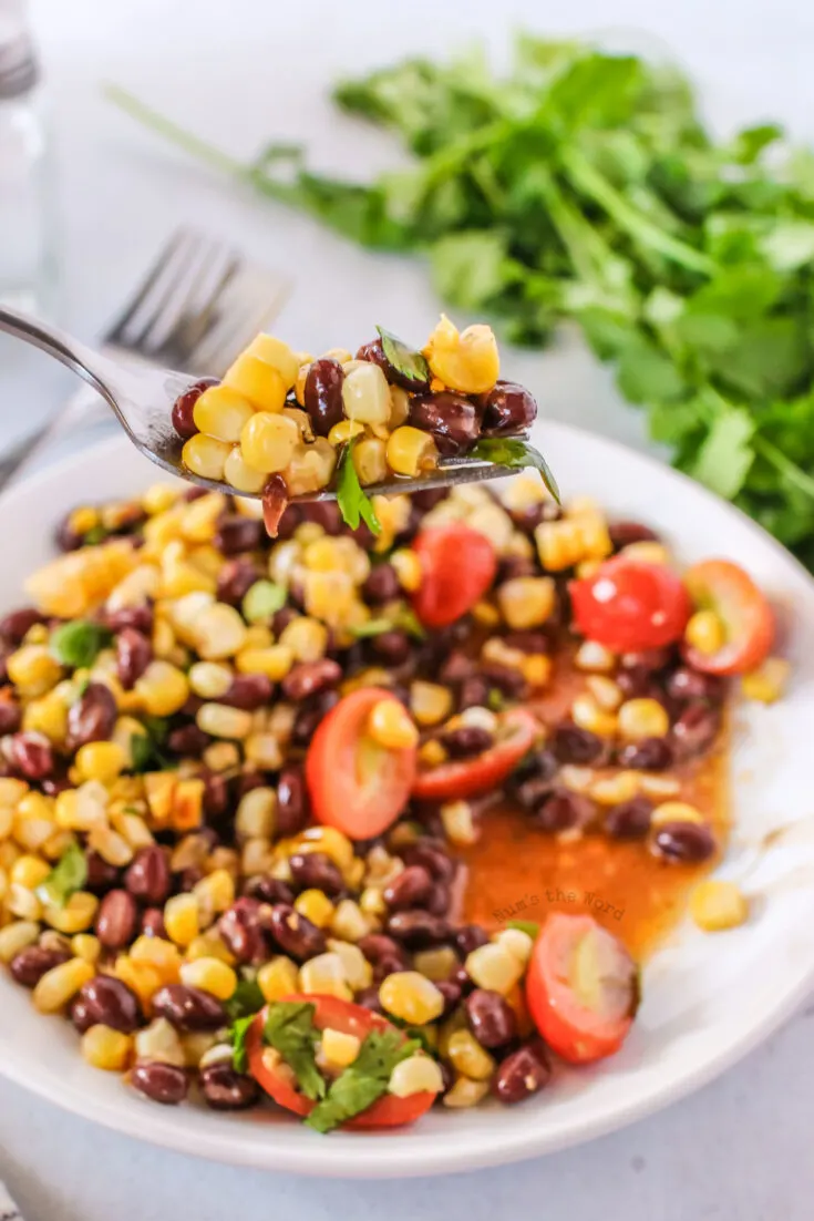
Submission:
POLYGON ((305 756, 305 783, 317 822, 349 839, 381 835, 404 810, 415 777, 416 750, 388 751, 366 733, 383 687, 347 695, 320 722, 305 756))

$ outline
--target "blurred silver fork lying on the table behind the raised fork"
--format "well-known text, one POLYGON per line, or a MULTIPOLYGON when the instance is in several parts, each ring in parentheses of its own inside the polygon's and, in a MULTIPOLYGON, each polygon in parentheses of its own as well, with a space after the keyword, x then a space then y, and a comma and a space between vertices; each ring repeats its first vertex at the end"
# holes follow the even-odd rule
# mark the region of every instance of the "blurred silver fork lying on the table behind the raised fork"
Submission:
MULTIPOLYGON (((279 275, 247 261, 227 243, 179 228, 104 333, 103 354, 118 361, 221 376, 279 313, 289 287, 279 275)), ((45 427, 0 454, 0 491, 50 441, 99 414, 106 410, 95 393, 83 388, 72 396, 45 427)))

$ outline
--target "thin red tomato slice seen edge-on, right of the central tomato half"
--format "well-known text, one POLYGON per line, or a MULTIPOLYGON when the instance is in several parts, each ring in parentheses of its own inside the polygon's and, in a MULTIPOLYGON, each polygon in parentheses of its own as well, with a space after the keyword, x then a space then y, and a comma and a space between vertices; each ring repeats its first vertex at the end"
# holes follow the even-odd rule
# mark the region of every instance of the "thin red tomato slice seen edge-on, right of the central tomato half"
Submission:
POLYGON ((412 796, 423 801, 450 801, 497 789, 535 745, 539 725, 525 708, 511 708, 500 717, 498 740, 482 755, 454 759, 419 772, 412 796))

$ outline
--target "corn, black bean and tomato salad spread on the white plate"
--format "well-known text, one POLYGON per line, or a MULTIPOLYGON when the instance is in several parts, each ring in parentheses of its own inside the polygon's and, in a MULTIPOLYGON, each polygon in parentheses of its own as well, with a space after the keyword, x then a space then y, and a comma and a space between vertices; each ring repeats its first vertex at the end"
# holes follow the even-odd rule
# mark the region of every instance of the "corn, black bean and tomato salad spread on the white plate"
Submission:
MULTIPOLYGON (((466 923, 459 856, 499 796, 530 836, 711 858, 675 769, 719 742, 729 676, 781 694, 763 595, 530 475, 376 497, 377 536, 320 503, 272 541, 259 508, 81 505, 0 623, 0 962, 148 1099, 320 1132, 613 1054, 624 945, 589 915, 466 923)), ((746 901, 710 879, 693 915, 746 901)))

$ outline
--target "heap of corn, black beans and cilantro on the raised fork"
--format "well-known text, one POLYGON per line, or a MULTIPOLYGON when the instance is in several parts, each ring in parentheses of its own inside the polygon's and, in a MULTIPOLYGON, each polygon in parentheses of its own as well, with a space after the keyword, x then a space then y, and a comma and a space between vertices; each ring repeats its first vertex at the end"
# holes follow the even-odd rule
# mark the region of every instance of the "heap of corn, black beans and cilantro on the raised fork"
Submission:
MULTIPOLYGON (((521 442, 537 416, 532 394, 500 381, 484 325, 463 332, 445 316, 422 352, 382 330, 355 357, 314 358, 259 335, 222 382, 193 383, 172 422, 194 475, 264 496, 273 535, 288 501, 330 487, 351 526, 377 527, 364 487, 434 470, 439 455, 475 453, 510 465, 539 462, 521 442), (497 447, 497 448, 495 448, 497 447)), ((544 468, 544 464, 543 464, 544 468)))

